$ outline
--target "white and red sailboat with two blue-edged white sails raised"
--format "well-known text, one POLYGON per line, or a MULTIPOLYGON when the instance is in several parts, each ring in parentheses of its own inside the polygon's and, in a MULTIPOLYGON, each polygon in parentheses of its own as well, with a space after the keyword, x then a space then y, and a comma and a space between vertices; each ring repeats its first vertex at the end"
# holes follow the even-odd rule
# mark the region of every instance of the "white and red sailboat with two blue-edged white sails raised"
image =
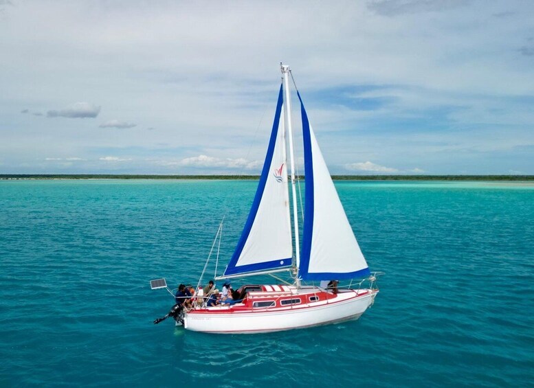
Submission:
POLYGON ((188 330, 223 334, 276 332, 358 319, 379 292, 377 273, 370 272, 361 253, 297 90, 305 182, 300 238, 289 91, 289 78, 293 77, 289 66, 280 67, 282 84, 256 195, 232 258, 223 275, 215 279, 229 282, 236 277, 287 272, 292 282, 249 284, 240 289, 237 300, 216 306, 207 306, 206 298, 195 294, 196 303, 180 310, 178 317, 175 314, 177 324, 188 330), (326 283, 333 279, 334 285, 351 283, 327 287, 326 283))

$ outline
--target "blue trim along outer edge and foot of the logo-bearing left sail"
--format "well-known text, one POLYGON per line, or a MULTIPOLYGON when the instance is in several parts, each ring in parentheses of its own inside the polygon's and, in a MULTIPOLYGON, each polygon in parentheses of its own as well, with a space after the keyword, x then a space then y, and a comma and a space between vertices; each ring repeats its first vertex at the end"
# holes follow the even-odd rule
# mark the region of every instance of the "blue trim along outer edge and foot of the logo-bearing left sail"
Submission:
MULTIPOLYGON (((278 135, 278 126, 280 124, 280 113, 282 112, 283 100, 284 99, 282 96, 282 85, 280 85, 280 92, 278 93, 278 102, 276 104, 276 113, 274 114, 273 129, 271 130, 271 139, 269 139, 269 147, 267 148, 267 155, 265 156, 265 163, 263 163, 263 170, 260 176, 260 183, 258 183, 258 190, 256 190, 256 196, 254 196, 254 202, 252 203, 252 208, 250 209, 247 222, 245 223, 245 227, 243 228, 243 232, 241 233, 241 238, 239 239, 239 242, 237 243, 236 250, 234 251, 234 255, 232 255, 232 259, 230 260, 230 263, 228 264, 224 272, 225 275, 236 275, 238 273, 247 273, 247 272, 253 272, 253 271, 256 272, 256 271, 263 271, 267 269, 279 269, 279 268, 283 268, 288 265, 287 259, 285 259, 285 260, 273 260, 270 262, 260 262, 256 264, 236 266, 239 260, 239 257, 241 256, 241 252, 243 252, 243 247, 245 247, 245 243, 247 242, 247 239, 249 237, 249 233, 250 233, 250 230, 252 229, 252 225, 254 224, 254 219, 256 218, 256 214, 258 213, 258 208, 260 207, 261 198, 263 196, 263 190, 265 190, 265 184, 267 183, 267 176, 269 176, 271 160, 273 159, 273 155, 274 155, 274 147, 276 146, 276 137, 278 135)), ((289 260, 290 260, 289 264, 291 264, 291 259, 289 260)))

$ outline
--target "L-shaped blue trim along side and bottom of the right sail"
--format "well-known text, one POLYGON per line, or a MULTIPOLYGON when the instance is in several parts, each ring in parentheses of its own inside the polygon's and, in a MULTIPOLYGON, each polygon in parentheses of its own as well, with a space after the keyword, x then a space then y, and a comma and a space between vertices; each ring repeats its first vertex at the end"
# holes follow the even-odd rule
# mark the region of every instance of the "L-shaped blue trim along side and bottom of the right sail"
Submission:
POLYGON ((304 103, 300 98, 300 113, 302 115, 302 141, 304 142, 304 225, 302 227, 302 249, 300 253, 300 268, 298 274, 302 280, 331 280, 331 279, 354 279, 357 277, 367 277, 370 275, 368 268, 349 273, 320 272, 309 273, 311 256, 311 237, 313 235, 313 159, 311 155, 311 133, 310 123, 304 103))

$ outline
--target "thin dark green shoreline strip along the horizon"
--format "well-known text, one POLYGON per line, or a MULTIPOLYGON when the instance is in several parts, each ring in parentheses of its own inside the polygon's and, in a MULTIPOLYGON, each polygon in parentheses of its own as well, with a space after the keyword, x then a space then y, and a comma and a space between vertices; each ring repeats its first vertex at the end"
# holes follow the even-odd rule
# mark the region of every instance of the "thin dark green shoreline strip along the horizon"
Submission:
MULTIPOLYGON (((0 174, 0 180, 203 179, 254 181, 259 175, 0 174)), ((534 175, 332 175, 335 181, 534 181, 534 175)))

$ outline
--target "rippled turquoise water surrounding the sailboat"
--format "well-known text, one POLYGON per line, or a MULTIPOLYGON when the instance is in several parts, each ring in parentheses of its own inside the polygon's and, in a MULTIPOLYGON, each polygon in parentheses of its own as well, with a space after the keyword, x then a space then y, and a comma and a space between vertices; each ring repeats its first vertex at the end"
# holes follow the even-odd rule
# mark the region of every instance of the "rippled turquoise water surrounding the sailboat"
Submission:
POLYGON ((0 181, 0 386, 532 386, 534 185, 336 185, 375 305, 221 336, 148 280, 196 282, 223 213, 225 265, 256 182, 0 181))

